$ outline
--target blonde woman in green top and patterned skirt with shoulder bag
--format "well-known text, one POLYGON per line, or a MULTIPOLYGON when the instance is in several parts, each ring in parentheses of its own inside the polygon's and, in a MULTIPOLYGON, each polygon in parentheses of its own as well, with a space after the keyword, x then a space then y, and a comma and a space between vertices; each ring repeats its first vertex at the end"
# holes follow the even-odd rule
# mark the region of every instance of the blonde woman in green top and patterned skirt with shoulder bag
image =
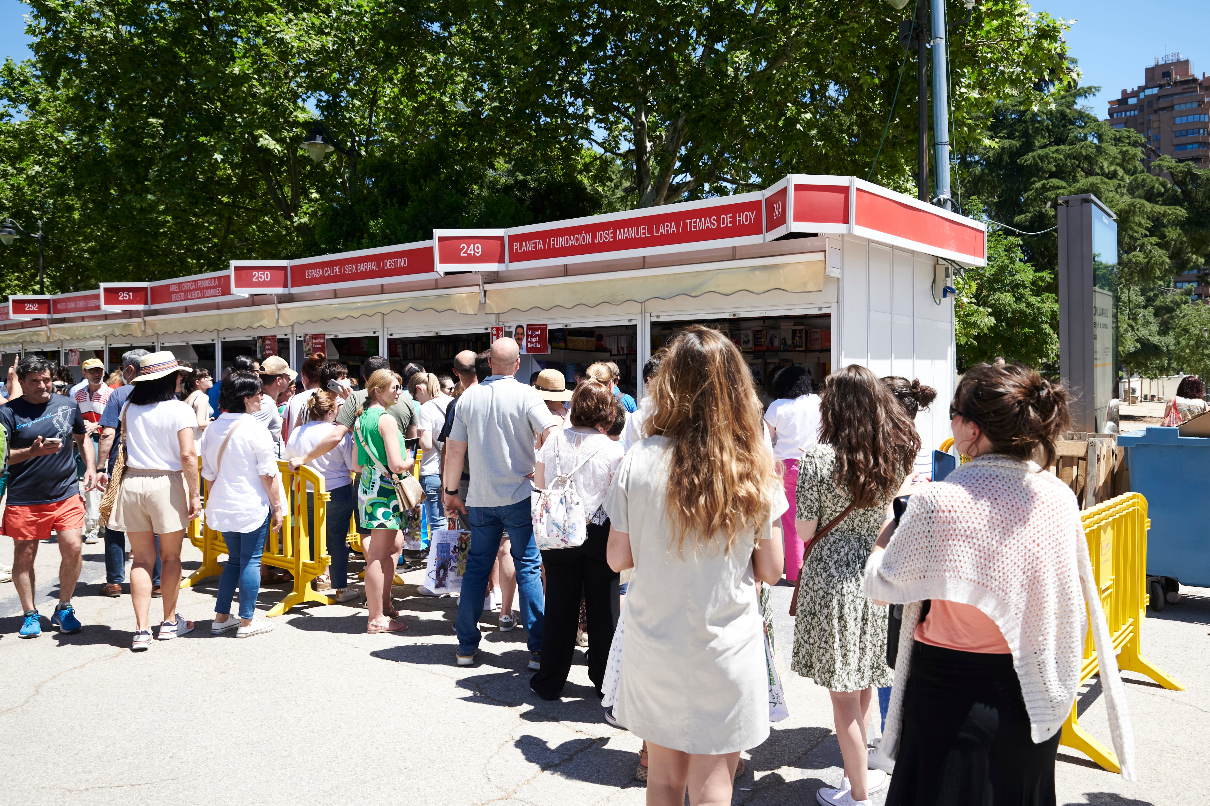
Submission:
POLYGON ((398 617, 391 599, 391 582, 394 580, 396 563, 403 551, 403 533, 408 526, 408 514, 403 511, 391 472, 408 470, 403 434, 387 408, 399 400, 402 379, 391 370, 378 370, 365 381, 365 402, 357 412, 353 430, 357 434, 357 464, 364 468, 357 486, 357 505, 362 528, 369 529, 362 538, 365 556, 365 607, 369 621, 365 632, 399 632, 408 625, 398 617))

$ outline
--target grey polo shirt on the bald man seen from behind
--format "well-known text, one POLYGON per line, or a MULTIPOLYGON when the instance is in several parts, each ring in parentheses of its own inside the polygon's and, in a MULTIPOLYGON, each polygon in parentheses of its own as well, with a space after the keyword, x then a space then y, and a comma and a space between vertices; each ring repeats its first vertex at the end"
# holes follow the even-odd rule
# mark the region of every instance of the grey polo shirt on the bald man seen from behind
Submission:
POLYGON ((561 421, 532 387, 513 376, 494 375, 462 393, 450 439, 466 442, 474 459, 467 506, 508 506, 529 498, 534 482, 534 442, 561 421))

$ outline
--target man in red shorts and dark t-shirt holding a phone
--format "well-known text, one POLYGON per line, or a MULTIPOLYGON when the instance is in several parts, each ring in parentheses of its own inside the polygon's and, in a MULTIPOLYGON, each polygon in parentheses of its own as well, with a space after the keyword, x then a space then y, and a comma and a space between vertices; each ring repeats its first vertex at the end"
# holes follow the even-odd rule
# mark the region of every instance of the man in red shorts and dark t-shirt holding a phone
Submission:
POLYGON ((40 540, 58 534, 59 604, 51 626, 60 632, 81 627, 71 607, 71 593, 80 579, 80 535, 83 532, 83 499, 76 482, 75 457, 69 440, 75 440, 85 458, 85 489, 97 486, 92 440, 86 437, 83 417, 74 400, 53 394, 54 363, 41 355, 27 355, 17 363, 22 396, 0 406, 0 425, 8 434, 8 505, 4 533, 12 537, 12 581, 21 597, 24 622, 22 638, 42 633, 34 603, 34 558, 40 540))

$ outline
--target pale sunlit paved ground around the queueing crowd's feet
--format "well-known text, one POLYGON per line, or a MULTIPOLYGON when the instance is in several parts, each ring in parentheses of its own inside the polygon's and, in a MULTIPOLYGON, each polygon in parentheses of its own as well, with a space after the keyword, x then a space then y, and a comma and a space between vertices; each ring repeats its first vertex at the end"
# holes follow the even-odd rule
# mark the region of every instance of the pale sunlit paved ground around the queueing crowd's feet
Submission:
MULTIPOLYGON (((200 557, 186 547, 186 573, 200 557)), ((0 562, 11 558, 4 539, 0 562)), ((333 605, 295 609, 266 636, 213 638, 208 580, 180 599, 198 628, 134 655, 129 597, 97 593, 102 544, 85 546, 85 559, 75 599, 85 628, 75 636, 18 639, 16 592, 0 586, 0 746, 10 759, 0 802, 644 802, 632 779, 639 740, 604 723, 587 667, 574 668, 561 702, 543 702, 528 688, 522 630, 485 632, 482 662, 454 666, 455 599, 416 597, 417 574, 396 588, 411 625, 402 636, 368 636, 364 610, 333 605)), ((38 596, 47 615, 57 563, 56 546, 42 544, 38 596)), ((774 590, 778 614, 789 593, 774 590)), ((261 610, 282 595, 263 588, 261 610)), ((1125 783, 1060 748, 1060 804, 1210 802, 1202 737, 1210 590, 1185 595, 1147 620, 1145 648, 1187 690, 1125 675, 1142 781, 1125 783)), ((494 630, 495 615, 483 626, 494 630)), ((790 718, 747 754, 736 804, 813 804, 816 788, 840 778, 828 695, 789 672, 791 626, 778 616, 790 718)), ((1081 719, 1107 742, 1096 695, 1083 697, 1081 719)))

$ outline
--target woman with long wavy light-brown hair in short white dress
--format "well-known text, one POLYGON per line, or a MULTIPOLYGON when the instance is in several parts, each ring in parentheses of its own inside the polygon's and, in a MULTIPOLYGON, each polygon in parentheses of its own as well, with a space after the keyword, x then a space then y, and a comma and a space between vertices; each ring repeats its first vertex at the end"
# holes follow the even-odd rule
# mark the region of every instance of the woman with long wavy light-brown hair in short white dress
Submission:
POLYGON ((768 737, 756 581, 782 578, 782 480, 738 348, 681 332, 650 387, 646 439, 605 501, 606 556, 634 568, 615 714, 646 741, 647 804, 730 804, 768 737))

